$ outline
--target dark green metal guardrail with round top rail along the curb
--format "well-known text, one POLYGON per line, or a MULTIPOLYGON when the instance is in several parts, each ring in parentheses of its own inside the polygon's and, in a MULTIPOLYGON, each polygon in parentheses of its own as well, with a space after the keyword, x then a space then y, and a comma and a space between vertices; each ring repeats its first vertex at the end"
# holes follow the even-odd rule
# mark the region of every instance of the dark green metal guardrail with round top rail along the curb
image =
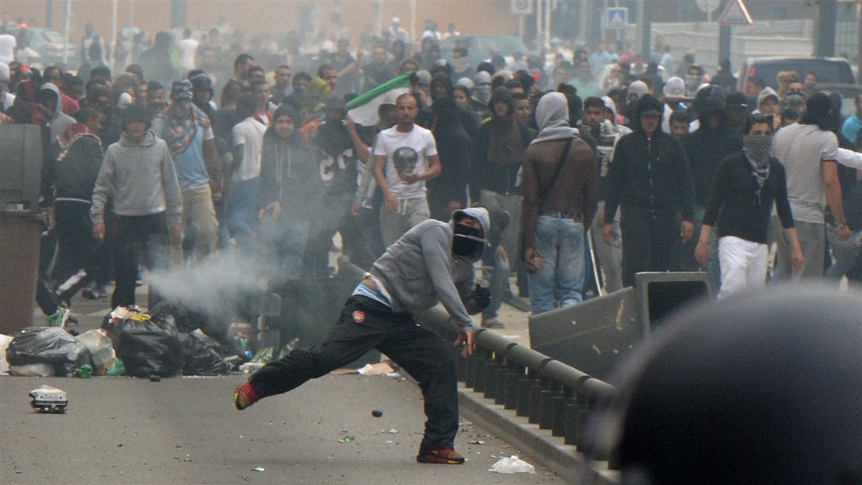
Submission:
MULTIPOLYGON (((339 268, 341 276, 359 278, 363 273, 345 256, 339 258, 339 268)), ((457 332, 439 307, 417 320, 443 333, 457 332)), ((455 359, 459 381, 580 450, 587 416, 597 400, 615 393, 615 387, 495 332, 479 329, 475 340, 471 357, 455 359)))

